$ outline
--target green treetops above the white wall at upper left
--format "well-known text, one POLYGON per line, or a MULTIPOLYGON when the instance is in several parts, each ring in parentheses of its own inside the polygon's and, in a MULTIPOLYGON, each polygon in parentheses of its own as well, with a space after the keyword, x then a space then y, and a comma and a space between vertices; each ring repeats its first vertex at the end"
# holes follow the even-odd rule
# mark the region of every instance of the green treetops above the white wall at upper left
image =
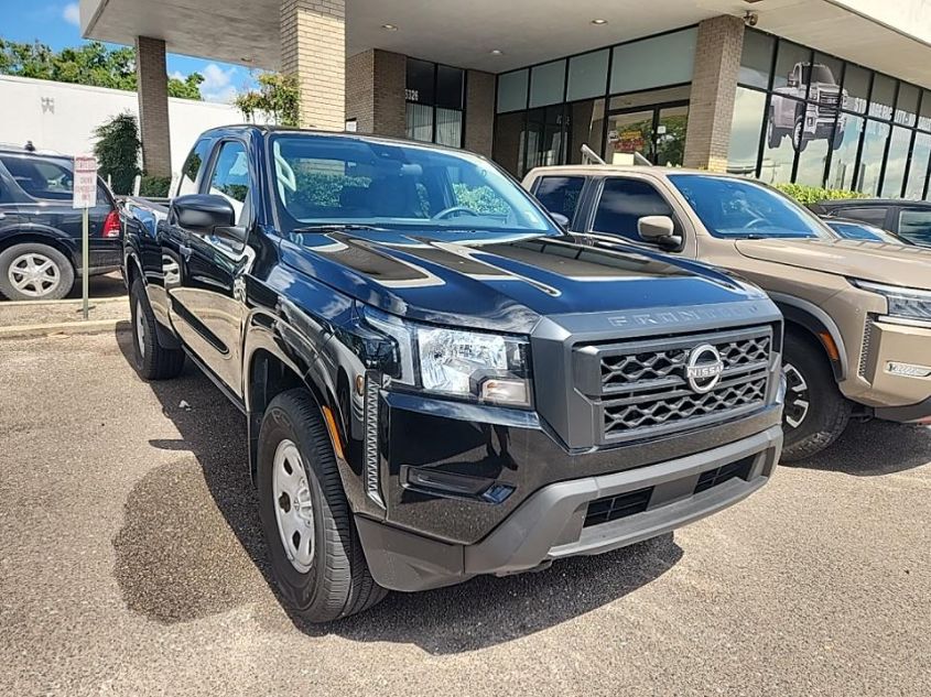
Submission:
MULTIPOLYGON (((53 51, 47 45, 20 43, 0 37, 0 74, 34 77, 59 83, 136 90, 136 51, 108 48, 99 41, 53 51)), ((181 80, 169 78, 169 95, 202 99, 204 76, 192 73, 181 80)))

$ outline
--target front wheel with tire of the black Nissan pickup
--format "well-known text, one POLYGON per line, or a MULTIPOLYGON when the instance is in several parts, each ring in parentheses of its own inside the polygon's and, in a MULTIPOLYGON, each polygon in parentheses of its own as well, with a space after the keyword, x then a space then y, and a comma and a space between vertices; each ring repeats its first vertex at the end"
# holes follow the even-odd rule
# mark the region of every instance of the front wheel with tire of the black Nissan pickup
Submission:
POLYGON ((297 614, 329 622, 385 598, 366 565, 323 417, 305 390, 269 404, 257 479, 272 575, 297 614))

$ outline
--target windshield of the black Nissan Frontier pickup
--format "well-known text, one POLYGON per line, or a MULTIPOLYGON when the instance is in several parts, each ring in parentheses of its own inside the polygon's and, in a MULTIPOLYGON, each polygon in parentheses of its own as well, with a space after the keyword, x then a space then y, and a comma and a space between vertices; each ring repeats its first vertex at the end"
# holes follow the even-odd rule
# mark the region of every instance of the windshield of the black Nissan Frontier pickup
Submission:
POLYGON ((468 153, 340 135, 270 143, 282 231, 316 226, 560 235, 520 186, 468 153))

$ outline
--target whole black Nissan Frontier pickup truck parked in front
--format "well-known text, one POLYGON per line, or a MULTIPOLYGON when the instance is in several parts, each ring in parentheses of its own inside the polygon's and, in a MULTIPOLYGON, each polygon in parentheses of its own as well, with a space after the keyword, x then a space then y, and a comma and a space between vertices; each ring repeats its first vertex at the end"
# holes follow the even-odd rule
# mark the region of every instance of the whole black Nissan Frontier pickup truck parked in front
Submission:
POLYGON ((483 157, 229 127, 174 193, 122 213, 136 368, 187 357, 243 412, 307 620, 647 540, 772 475, 767 296, 569 235, 483 157))

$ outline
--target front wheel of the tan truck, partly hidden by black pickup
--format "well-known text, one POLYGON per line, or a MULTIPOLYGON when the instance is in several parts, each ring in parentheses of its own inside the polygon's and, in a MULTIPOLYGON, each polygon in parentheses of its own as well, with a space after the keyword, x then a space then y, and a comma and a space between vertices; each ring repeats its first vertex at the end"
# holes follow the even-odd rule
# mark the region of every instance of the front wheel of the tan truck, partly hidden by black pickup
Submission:
POLYGON ((786 333, 782 374, 782 460, 790 462, 811 457, 834 443, 847 426, 852 404, 837 389, 824 349, 813 339, 786 333))

